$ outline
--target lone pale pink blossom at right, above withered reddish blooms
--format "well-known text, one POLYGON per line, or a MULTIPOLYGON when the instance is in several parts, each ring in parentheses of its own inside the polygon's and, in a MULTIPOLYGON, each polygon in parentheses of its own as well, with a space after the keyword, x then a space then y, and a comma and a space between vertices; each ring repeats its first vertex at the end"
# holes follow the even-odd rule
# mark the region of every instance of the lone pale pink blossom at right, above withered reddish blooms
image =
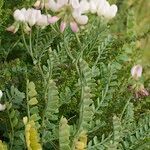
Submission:
POLYGON ((141 65, 135 65, 131 69, 131 75, 134 79, 139 79, 142 76, 142 66, 141 65))

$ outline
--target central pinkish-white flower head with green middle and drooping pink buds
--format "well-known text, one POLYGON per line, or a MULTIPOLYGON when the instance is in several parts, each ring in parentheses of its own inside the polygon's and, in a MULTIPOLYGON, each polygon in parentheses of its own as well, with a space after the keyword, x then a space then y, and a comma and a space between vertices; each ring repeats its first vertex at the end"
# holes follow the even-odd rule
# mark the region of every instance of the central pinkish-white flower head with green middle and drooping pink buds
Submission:
POLYGON ((49 23, 55 23, 61 19, 60 30, 63 32, 68 24, 73 32, 78 32, 78 25, 85 25, 88 17, 85 15, 89 10, 89 3, 86 0, 50 0, 50 9, 57 13, 56 16, 48 19, 49 23))

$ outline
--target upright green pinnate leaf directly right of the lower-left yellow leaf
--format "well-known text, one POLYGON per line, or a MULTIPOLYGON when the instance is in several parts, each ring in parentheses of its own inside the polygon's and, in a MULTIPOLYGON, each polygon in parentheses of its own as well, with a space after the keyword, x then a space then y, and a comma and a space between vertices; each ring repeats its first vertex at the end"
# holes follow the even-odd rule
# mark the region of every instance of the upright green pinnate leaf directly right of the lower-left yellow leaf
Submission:
POLYGON ((43 143, 53 141, 58 138, 58 109, 59 96, 56 83, 50 80, 48 83, 48 93, 45 110, 42 118, 43 143))

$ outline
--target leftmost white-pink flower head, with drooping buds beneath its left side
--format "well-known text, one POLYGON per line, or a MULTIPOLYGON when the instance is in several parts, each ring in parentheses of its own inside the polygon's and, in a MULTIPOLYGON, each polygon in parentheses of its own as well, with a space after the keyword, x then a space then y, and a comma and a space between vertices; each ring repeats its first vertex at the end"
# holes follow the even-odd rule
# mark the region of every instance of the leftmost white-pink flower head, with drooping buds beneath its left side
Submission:
POLYGON ((16 33, 19 29, 19 26, 22 25, 23 29, 26 33, 31 31, 31 27, 34 25, 37 26, 47 26, 48 25, 48 16, 41 14, 40 10, 36 10, 33 8, 21 10, 15 10, 14 14, 15 22, 13 25, 7 28, 7 31, 11 31, 16 33))

